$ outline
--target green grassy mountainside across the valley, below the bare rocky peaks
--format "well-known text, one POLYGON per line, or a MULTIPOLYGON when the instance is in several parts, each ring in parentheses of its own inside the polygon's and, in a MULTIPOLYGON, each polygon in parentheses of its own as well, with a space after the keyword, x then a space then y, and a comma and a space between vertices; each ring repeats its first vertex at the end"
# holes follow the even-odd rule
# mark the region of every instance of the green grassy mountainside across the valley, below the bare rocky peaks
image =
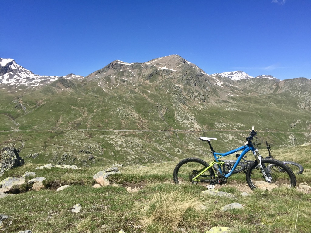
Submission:
POLYGON ((221 96, 221 92, 213 89, 215 93, 208 92, 207 97, 198 92, 197 86, 177 88, 172 80, 137 86, 114 85, 109 93, 92 81, 65 85, 68 88, 63 83, 54 83, 41 89, 18 88, 9 89, 10 92, 0 89, 3 96, 0 130, 49 129, 2 132, 1 146, 19 148, 22 158, 40 154, 35 159, 26 158, 29 162, 94 166, 94 161, 87 159, 89 154, 81 150, 96 156, 95 165, 112 161, 143 164, 206 155, 209 149, 198 140, 199 136, 218 138, 215 149, 225 152, 243 144, 251 126, 260 130, 258 136, 272 146, 299 145, 311 138, 310 112, 299 108, 297 99, 288 91, 261 94, 249 90, 240 94, 235 88, 232 96, 221 96), (206 101, 202 102, 202 98, 206 101), (219 131, 180 131, 198 130, 197 125, 202 130, 219 131), (172 129, 176 131, 165 131, 172 129), (67 159, 62 161, 65 155, 67 159))

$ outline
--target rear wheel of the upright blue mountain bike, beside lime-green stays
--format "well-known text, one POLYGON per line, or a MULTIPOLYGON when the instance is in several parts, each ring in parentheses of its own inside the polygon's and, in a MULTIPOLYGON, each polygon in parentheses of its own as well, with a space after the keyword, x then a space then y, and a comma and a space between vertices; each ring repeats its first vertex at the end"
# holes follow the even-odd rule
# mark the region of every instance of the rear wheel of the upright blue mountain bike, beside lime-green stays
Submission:
MULTIPOLYGON (((200 172, 202 172, 208 166, 209 164, 200 158, 183 159, 176 165, 174 169, 173 178, 175 184, 198 183, 191 179, 200 174, 200 172)), ((215 179, 215 173, 211 168, 209 168, 207 171, 197 177, 197 179, 201 182, 209 183, 211 182, 211 179, 215 179)))

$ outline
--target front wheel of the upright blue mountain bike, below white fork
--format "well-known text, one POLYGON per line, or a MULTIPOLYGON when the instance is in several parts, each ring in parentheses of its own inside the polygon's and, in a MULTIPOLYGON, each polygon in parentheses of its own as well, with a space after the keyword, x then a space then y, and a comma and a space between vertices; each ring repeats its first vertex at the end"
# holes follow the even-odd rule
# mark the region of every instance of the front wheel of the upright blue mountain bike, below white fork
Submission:
POLYGON ((265 179, 258 162, 254 161, 246 171, 246 181, 252 190, 272 190, 278 187, 294 188, 296 186, 296 177, 293 171, 283 162, 272 158, 262 159, 261 162, 270 181, 265 179), (270 170, 267 167, 270 167, 270 170))

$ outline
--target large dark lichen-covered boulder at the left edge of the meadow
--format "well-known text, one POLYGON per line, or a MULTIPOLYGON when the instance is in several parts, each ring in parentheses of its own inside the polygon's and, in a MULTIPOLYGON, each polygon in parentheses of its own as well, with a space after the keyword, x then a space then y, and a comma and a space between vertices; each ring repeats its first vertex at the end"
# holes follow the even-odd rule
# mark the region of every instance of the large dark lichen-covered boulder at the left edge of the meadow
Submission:
POLYGON ((4 171, 23 164, 24 159, 19 156, 16 148, 4 147, 0 149, 0 177, 3 175, 4 171))

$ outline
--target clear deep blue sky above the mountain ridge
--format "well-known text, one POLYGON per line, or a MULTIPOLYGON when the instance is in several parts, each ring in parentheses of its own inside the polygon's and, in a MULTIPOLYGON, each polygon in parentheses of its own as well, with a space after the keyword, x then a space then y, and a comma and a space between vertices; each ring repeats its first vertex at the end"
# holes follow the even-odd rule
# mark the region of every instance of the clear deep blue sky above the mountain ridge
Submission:
POLYGON ((39 75, 179 54, 207 74, 311 79, 310 0, 1 0, 0 57, 39 75))

